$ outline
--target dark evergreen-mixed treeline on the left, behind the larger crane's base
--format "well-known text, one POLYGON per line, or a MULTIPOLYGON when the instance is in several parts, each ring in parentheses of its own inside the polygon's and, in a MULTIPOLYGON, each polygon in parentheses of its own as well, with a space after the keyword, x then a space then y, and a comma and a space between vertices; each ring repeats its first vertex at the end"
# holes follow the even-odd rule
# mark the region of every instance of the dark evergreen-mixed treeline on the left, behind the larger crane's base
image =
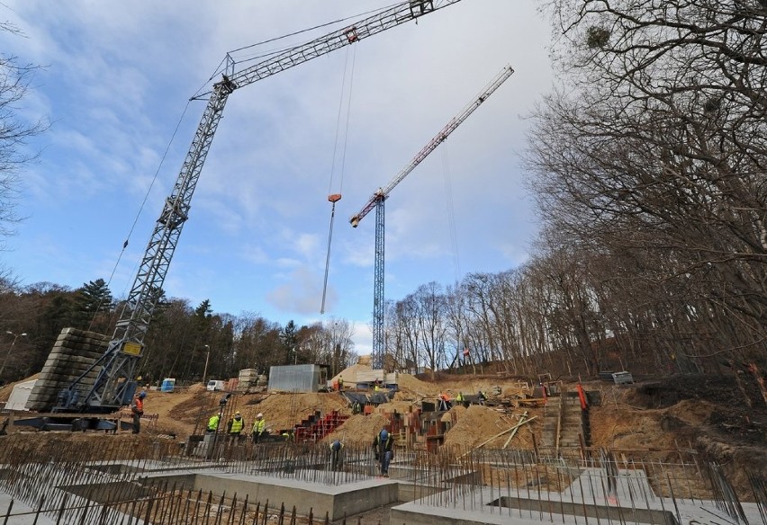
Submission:
MULTIPOLYGON (((123 307, 103 279, 74 290, 51 283, 15 289, 7 282, 0 289, 0 325, 11 333, 0 340, 0 349, 6 350, 0 379, 5 380, 39 372, 63 328, 112 335, 123 307)), ((256 314, 216 314, 210 300, 192 307, 185 299, 160 293, 138 373, 148 383, 163 378, 189 383, 201 381, 205 372, 207 378, 227 379, 237 378, 240 369, 267 373, 275 365, 321 363, 335 374, 356 362, 352 330, 335 318, 298 326, 256 314)))

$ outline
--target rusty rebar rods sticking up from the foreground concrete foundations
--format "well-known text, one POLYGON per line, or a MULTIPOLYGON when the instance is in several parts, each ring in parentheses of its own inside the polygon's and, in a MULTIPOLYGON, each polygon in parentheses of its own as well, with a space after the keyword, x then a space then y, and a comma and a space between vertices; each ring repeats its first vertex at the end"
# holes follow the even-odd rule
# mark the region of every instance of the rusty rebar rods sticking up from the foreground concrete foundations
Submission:
MULTIPOLYGON (((0 447, 0 492, 11 503, 0 509, 0 524, 13 517, 47 515, 57 523, 155 523, 158 525, 244 525, 266 523, 269 503, 237 494, 213 494, 169 483, 163 471, 201 469, 257 478, 291 478, 310 485, 341 486, 376 478, 369 446, 347 443, 338 461, 323 443, 259 443, 221 440, 210 456, 188 454, 170 440, 111 439, 41 444, 27 435, 4 438, 0 447), (141 446, 139 446, 139 443, 141 446), (157 478, 149 476, 155 473, 157 478), (19 510, 19 503, 29 505, 19 510)), ((676 460, 676 459, 675 459, 676 460)), ((604 450, 584 456, 560 450, 557 457, 516 449, 397 450, 392 479, 411 485, 426 507, 499 512, 510 517, 576 523, 681 521, 680 505, 712 500, 713 506, 746 522, 739 495, 721 467, 699 468, 694 455, 669 463, 660 458, 621 458, 604 450), (699 476, 699 473, 706 476, 699 476), (657 512, 657 514, 647 513, 657 512), (642 521, 640 513, 645 516, 642 521), (649 516, 649 518, 647 518, 649 516)), ((767 524, 767 483, 748 475, 762 524, 767 524)), ((299 520, 280 503, 278 519, 299 520)), ((313 521, 313 517, 311 518, 313 521)), ((326 518, 326 521, 328 519, 326 518)))

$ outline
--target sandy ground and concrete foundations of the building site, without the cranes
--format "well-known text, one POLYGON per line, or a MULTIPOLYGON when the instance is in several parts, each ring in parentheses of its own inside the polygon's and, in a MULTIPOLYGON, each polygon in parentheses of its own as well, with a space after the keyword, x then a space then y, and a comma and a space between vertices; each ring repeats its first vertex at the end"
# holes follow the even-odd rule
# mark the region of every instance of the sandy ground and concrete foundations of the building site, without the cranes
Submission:
MULTIPOLYGON (((337 377, 328 392, 236 381, 231 391, 151 387, 138 435, 121 430, 130 429, 127 411, 104 416, 122 421, 115 430, 86 432, 40 432, 19 424, 29 412, 6 414, 0 518, 19 524, 767 522, 767 411, 755 380, 532 384, 466 374, 431 381, 383 374, 362 361, 340 374, 342 390, 337 377), (371 387, 375 378, 382 387, 371 387), (440 396, 449 405, 440 406, 440 396), (242 437, 227 435, 223 423, 237 412, 245 420, 242 437), (205 432, 215 414, 219 432, 205 432), (257 414, 269 437, 253 444, 248 433, 257 414), (380 475, 372 449, 383 428, 395 439, 388 477, 380 475), (332 463, 329 443, 336 439, 344 446, 340 462, 332 463)), ((0 391, 0 400, 13 387, 0 391)))

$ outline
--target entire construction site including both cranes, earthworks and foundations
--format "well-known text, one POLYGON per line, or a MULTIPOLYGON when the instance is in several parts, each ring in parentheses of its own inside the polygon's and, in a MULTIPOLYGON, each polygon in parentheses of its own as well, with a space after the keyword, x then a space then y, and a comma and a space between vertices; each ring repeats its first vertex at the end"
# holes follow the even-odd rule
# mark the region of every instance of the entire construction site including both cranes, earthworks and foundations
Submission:
MULTIPOLYGON (((350 219, 356 227, 376 210, 370 356, 326 377, 329 365, 294 353, 268 374, 208 382, 203 344, 203 381, 142 381, 158 290, 230 94, 457 2, 397 4, 255 65, 227 55, 113 334, 65 328, 39 373, 0 389, 0 523, 767 525, 767 388, 750 357, 717 361, 717 373, 663 374, 653 373, 660 361, 639 371, 618 359, 588 380, 514 376, 490 360, 458 366, 457 348, 447 370, 389 362, 383 202, 510 66, 350 219), (381 439, 391 449, 379 454, 381 439)), ((705 308, 685 318, 693 310, 705 308)), ((7 332, 9 356, 27 335, 18 332, 7 332)), ((547 348, 549 362, 563 347, 547 348)))

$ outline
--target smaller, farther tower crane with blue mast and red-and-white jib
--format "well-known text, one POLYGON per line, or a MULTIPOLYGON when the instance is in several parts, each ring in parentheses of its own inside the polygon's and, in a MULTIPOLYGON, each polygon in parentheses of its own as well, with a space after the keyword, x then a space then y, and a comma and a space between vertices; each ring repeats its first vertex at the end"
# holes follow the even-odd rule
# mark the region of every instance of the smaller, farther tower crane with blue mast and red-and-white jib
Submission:
POLYGON ((375 191, 370 200, 367 201, 365 206, 359 210, 356 215, 349 218, 349 222, 352 227, 359 226, 359 221, 365 218, 370 210, 375 209, 375 255, 374 255, 374 280, 373 280, 373 367, 383 368, 383 230, 384 230, 384 213, 383 202, 389 198, 389 193, 396 187, 397 184, 402 182, 408 174, 413 171, 420 162, 425 159, 429 154, 434 151, 442 142, 456 130, 461 123, 469 118, 474 110, 476 110, 492 93, 501 87, 501 84, 514 73, 514 70, 510 66, 503 67, 501 72, 496 75, 490 84, 486 85, 481 93, 479 93, 472 102, 464 108, 463 111, 458 113, 453 120, 447 122, 447 125, 439 131, 439 133, 429 141, 420 152, 413 157, 411 162, 402 168, 399 174, 396 174, 392 179, 392 182, 385 188, 379 188, 375 191))

